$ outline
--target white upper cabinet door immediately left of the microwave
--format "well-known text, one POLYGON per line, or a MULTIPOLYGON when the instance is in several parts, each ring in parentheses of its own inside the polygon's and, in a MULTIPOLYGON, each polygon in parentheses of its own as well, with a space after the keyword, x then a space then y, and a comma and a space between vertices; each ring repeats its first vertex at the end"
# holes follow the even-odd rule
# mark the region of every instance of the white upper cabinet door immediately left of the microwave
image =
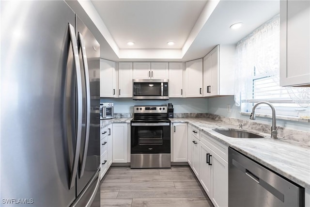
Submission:
POLYGON ((132 97, 132 73, 133 73, 132 62, 120 62, 118 68, 118 97, 132 97))

